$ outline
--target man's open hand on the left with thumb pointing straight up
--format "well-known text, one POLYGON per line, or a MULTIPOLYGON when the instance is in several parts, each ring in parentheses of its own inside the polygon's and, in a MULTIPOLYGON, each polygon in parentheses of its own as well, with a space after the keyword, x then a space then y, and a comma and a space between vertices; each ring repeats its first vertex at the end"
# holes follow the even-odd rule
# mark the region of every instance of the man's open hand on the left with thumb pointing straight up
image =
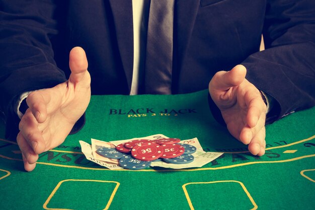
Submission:
POLYGON ((29 108, 21 119, 17 136, 26 171, 35 168, 38 154, 63 143, 89 105, 91 77, 81 47, 70 51, 69 66, 71 75, 68 81, 34 91, 26 99, 29 108))

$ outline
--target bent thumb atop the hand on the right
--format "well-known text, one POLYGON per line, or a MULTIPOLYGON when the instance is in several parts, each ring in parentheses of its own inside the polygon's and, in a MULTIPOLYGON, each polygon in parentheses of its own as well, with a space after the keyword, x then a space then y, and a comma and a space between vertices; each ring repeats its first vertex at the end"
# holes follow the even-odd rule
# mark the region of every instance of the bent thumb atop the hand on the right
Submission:
POLYGON ((237 65, 228 72, 217 72, 209 83, 209 91, 211 89, 226 91, 230 87, 240 85, 244 81, 245 76, 246 68, 244 65, 237 65))

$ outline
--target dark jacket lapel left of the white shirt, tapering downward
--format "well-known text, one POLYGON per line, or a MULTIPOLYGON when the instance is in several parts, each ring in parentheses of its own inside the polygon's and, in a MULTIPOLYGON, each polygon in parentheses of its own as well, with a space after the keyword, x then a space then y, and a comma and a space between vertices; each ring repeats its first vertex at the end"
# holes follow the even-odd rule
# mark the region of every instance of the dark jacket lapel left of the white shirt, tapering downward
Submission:
POLYGON ((110 0, 109 2, 113 13, 120 57, 130 91, 133 68, 132 1, 110 0))

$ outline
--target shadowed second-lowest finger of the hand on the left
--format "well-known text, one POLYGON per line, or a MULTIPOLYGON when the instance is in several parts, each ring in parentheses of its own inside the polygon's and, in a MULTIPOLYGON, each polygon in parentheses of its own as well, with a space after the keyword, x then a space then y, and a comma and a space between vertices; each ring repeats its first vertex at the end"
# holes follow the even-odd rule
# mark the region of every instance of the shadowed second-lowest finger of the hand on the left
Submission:
POLYGON ((34 153, 33 149, 30 147, 26 139, 21 132, 18 133, 17 143, 20 150, 24 156, 24 161, 29 164, 34 164, 38 160, 38 155, 34 153))

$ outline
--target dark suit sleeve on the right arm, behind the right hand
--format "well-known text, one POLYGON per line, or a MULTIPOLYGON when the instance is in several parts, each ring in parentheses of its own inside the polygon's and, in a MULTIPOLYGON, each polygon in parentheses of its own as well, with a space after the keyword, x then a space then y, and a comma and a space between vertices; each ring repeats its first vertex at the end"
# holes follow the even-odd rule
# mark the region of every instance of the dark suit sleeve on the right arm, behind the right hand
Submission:
POLYGON ((275 102, 268 123, 315 105, 315 1, 267 1, 263 36, 266 49, 242 64, 275 102))

